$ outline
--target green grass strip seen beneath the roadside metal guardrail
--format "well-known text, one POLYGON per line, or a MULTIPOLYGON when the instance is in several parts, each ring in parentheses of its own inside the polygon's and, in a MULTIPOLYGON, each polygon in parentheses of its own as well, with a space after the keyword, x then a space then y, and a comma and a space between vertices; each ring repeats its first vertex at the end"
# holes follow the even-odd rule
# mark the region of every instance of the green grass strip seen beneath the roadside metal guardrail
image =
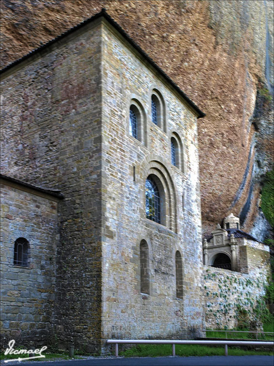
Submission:
MULTIPOLYGON (((224 356, 224 347, 210 347, 200 345, 176 345, 175 352, 177 356, 224 356)), ((169 344, 146 345, 140 344, 137 347, 119 352, 124 357, 159 357, 170 356, 172 347, 169 344)), ((248 356, 248 355, 269 355, 273 352, 258 350, 242 350, 235 347, 228 347, 228 355, 248 356)))

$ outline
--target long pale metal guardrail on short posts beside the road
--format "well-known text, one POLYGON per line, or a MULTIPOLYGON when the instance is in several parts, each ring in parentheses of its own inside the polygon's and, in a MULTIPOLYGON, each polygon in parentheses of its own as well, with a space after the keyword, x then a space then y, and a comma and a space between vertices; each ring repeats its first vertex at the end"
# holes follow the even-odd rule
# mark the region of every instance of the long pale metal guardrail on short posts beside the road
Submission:
POLYGON ((202 344, 225 346, 225 356, 228 356, 228 346, 273 346, 274 342, 268 341, 194 341, 194 340, 163 340, 163 339, 107 339, 107 344, 115 344, 115 356, 118 357, 119 344, 172 344, 172 356, 176 356, 176 344, 202 344))

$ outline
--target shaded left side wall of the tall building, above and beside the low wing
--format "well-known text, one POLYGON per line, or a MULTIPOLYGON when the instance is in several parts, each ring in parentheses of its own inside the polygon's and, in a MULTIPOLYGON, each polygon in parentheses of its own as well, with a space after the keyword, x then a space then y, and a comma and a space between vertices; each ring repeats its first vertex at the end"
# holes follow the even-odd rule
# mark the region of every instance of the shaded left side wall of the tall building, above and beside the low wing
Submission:
POLYGON ((1 170, 64 194, 54 341, 95 350, 101 337, 101 30, 95 23, 85 30, 2 75, 1 170))

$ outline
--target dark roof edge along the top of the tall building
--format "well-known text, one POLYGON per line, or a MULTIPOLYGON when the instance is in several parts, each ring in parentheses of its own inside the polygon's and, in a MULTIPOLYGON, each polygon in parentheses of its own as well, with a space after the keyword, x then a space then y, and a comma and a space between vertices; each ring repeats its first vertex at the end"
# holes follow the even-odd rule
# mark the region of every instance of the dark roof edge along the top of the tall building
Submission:
POLYGON ((168 81, 168 83, 170 83, 173 88, 180 94, 183 96, 183 98, 186 100, 186 102, 197 112, 198 114, 198 118, 202 118, 205 117, 205 113, 202 112, 197 105, 191 100, 189 99, 189 97, 187 95, 185 95, 183 93, 183 91, 179 88, 179 86, 177 84, 175 84, 174 81, 172 81, 169 76, 167 76, 167 74, 157 65, 155 64, 155 62, 146 54, 145 51, 142 50, 142 48, 140 48, 140 46, 137 45, 137 43, 122 29, 122 27, 116 23, 116 21, 114 19, 111 18, 111 16, 109 16, 107 14, 107 11, 105 8, 103 8, 101 10, 100 13, 95 14, 94 16, 91 16, 89 19, 84 20, 83 22, 81 22, 80 24, 76 25, 75 27, 69 29, 68 31, 62 33, 61 35, 59 35, 58 37, 52 39, 51 41, 47 42, 45 45, 34 49, 33 51, 31 51, 30 53, 28 53, 27 55, 23 56, 22 58, 14 61, 11 64, 8 64, 7 66, 5 66, 3 69, 0 70, 0 73, 2 74, 3 72, 11 69, 12 67, 14 67, 17 64, 20 64, 22 61, 28 59, 30 56, 42 51, 43 49, 47 48, 48 46, 52 45, 53 43, 61 40, 62 38, 66 37, 68 34, 71 34, 73 32, 75 32, 77 29, 83 27, 84 25, 90 23, 91 21, 99 18, 100 16, 103 16, 105 19, 107 19, 107 21, 119 32, 122 34, 122 36, 131 44, 131 46, 133 46, 135 49, 137 49, 137 51, 144 57, 144 59, 146 61, 148 61, 150 64, 152 64, 152 66, 159 72, 159 74, 164 77, 164 79, 166 79, 168 81))

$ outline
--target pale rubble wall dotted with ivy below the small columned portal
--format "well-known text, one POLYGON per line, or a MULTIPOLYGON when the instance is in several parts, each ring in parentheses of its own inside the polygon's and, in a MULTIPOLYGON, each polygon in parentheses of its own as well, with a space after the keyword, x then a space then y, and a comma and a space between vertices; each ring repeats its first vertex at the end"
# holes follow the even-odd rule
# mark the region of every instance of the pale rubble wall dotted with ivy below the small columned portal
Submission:
POLYGON ((264 302, 269 267, 240 273, 204 266, 207 329, 260 327, 267 309, 264 302))

